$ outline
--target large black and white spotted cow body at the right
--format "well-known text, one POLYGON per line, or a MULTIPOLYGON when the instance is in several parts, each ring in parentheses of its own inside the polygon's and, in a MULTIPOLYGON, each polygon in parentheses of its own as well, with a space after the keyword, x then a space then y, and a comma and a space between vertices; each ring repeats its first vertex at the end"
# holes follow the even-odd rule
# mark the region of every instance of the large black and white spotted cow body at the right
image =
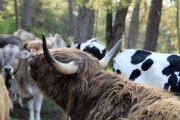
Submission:
POLYGON ((113 71, 139 83, 180 92, 180 55, 125 49, 113 61, 113 71))

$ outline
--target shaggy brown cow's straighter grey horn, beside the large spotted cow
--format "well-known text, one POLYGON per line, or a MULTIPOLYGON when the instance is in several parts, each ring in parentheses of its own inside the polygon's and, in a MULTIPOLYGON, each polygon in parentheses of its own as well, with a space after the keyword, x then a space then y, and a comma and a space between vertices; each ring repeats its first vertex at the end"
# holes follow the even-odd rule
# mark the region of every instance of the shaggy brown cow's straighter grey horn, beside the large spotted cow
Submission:
POLYGON ((119 47, 119 45, 121 44, 122 42, 122 39, 120 39, 115 45, 114 47, 109 51, 109 53, 104 57, 102 58, 100 61, 99 61, 99 64, 101 66, 102 69, 104 69, 107 64, 109 63, 109 61, 111 60, 111 58, 113 57, 114 53, 116 52, 117 48, 119 47))

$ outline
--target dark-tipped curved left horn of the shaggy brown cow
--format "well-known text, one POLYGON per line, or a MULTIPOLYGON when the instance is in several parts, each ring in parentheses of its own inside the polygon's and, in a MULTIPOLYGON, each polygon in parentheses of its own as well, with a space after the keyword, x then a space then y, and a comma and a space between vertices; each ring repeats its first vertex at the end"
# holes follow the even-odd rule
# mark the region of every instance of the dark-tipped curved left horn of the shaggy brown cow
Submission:
POLYGON ((71 61, 69 63, 61 63, 59 61, 57 61, 49 52, 48 48, 47 48, 47 43, 46 43, 46 38, 44 36, 44 34, 42 34, 42 40, 43 40, 43 51, 44 51, 44 56, 47 60, 47 62, 49 63, 49 65, 57 70, 60 73, 69 75, 69 74, 74 74, 77 72, 78 70, 78 66, 76 66, 74 64, 74 61, 71 61))

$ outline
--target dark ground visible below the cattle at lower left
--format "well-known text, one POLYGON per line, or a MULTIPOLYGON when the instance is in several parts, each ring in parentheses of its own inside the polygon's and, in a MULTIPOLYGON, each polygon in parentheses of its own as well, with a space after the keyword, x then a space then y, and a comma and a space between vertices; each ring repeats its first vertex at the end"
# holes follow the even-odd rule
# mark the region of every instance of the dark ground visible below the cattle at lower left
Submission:
MULTIPOLYGON (((21 108, 15 104, 13 112, 10 113, 10 120, 28 120, 29 110, 27 103, 21 108)), ((44 99, 41 108, 41 120, 65 120, 63 117, 63 110, 51 103, 49 100, 44 99)))

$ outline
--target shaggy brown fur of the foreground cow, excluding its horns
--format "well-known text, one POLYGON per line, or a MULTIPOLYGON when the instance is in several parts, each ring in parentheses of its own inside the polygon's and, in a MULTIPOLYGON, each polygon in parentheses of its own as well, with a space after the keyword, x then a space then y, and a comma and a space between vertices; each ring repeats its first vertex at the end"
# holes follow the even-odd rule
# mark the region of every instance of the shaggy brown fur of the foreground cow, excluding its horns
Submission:
POLYGON ((42 51, 29 60, 29 73, 42 93, 72 120, 179 120, 179 98, 100 69, 96 58, 76 49, 50 50, 63 63, 79 66, 73 75, 53 70, 42 51))

